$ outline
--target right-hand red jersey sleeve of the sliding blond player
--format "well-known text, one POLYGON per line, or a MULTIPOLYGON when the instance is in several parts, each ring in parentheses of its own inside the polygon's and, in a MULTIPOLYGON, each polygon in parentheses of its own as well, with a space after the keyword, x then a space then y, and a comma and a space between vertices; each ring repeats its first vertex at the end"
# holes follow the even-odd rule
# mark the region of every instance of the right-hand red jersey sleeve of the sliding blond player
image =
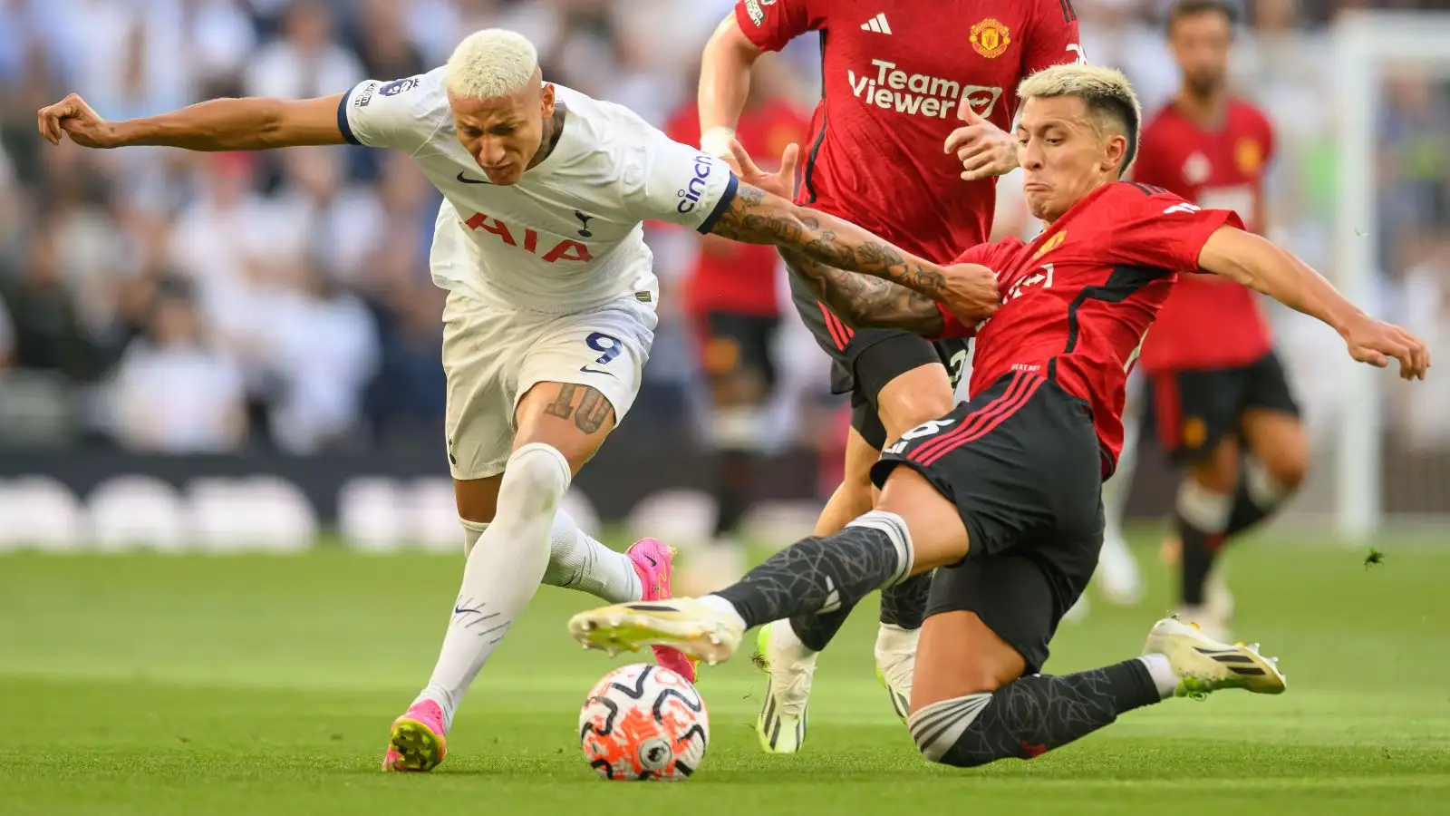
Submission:
POLYGON ((1167 272, 1198 272, 1198 256, 1219 227, 1244 228, 1231 209, 1202 209, 1161 187, 1119 184, 1114 241, 1103 247, 1115 263, 1167 272))

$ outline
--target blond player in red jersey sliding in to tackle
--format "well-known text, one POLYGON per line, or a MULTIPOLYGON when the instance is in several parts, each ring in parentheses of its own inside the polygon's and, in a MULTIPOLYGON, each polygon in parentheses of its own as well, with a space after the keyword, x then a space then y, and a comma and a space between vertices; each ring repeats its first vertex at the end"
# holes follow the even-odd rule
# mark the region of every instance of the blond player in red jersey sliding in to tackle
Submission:
MULTIPOLYGON (((937 569, 911 730, 922 755, 957 767, 1038 756, 1174 695, 1285 690, 1257 646, 1215 642, 1177 619, 1153 627, 1140 658, 1038 674, 1098 562, 1102 479, 1122 444, 1124 383, 1143 334, 1179 273, 1204 270, 1333 325, 1356 360, 1395 357, 1401 376, 1422 379, 1430 354, 1240 229, 1235 213, 1119 183, 1140 116, 1121 73, 1067 65, 1019 93, 1024 189, 1047 228, 1028 244, 1012 238, 958 258, 996 270, 1003 299, 990 319, 963 325, 899 287, 819 270, 824 293, 853 318, 890 314, 893 325, 935 335, 976 332, 972 399, 889 446, 871 469, 877 510, 835 536, 805 539, 715 595, 581 613, 570 620, 574 637, 596 648, 671 645, 716 662, 753 626, 850 605, 937 569)), ((748 183, 758 177, 745 168, 748 183)))

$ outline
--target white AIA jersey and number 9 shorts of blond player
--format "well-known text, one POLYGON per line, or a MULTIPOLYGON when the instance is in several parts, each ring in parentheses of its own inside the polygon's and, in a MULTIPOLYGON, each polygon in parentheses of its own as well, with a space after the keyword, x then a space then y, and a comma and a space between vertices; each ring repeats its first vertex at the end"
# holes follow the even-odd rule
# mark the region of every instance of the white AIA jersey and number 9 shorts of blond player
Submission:
POLYGON ((460 144, 445 68, 354 87, 338 107, 352 144, 406 151, 444 193, 434 282, 444 312, 448 454, 455 479, 502 473, 518 398, 539 382, 589 386, 624 418, 650 359, 660 298, 642 219, 709 232, 735 192, 729 167, 632 110, 554 86, 554 150, 493 184, 460 144))

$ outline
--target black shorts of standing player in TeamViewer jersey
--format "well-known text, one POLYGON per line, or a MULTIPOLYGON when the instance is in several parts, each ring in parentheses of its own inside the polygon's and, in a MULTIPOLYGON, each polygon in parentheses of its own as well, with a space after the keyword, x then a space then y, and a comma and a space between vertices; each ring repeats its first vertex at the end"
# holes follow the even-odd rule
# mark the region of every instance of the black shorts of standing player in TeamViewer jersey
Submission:
MULTIPOLYGON (((786 266, 790 266, 789 258, 786 266)), ((790 299, 816 344, 831 356, 831 392, 851 395, 851 427, 876 450, 887 441, 876 404, 886 383, 912 369, 941 363, 956 389, 966 370, 970 340, 932 343, 895 328, 853 331, 816 299, 795 269, 790 272, 790 299)))

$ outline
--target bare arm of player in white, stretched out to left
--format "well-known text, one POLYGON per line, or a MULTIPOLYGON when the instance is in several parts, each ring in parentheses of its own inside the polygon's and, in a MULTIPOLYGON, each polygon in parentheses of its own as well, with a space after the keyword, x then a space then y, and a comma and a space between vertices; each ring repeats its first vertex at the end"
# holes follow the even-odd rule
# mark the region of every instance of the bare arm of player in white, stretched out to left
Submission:
POLYGON ((36 113, 41 135, 61 144, 62 135, 81 147, 178 147, 196 151, 268 150, 299 145, 339 145, 342 94, 320 99, 213 99, 190 107, 107 122, 78 94, 36 113))

